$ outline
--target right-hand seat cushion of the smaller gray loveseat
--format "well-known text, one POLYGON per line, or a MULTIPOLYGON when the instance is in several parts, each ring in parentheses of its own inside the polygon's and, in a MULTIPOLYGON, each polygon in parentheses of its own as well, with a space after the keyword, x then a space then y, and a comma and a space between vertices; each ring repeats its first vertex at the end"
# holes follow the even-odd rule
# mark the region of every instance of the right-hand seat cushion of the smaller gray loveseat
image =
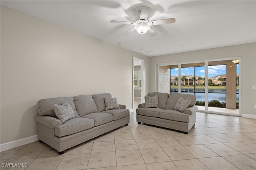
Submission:
POLYGON ((171 109, 160 111, 159 117, 178 122, 190 122, 190 115, 171 109))

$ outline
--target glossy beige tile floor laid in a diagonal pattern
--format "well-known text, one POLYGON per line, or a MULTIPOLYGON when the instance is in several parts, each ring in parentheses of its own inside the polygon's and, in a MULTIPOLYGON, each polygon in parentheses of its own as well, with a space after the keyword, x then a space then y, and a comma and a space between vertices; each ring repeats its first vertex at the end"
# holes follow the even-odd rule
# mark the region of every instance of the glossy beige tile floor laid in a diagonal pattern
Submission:
POLYGON ((255 170, 256 120, 197 113, 188 134, 128 126, 70 148, 63 155, 33 142, 1 152, 2 163, 25 163, 14 170, 255 170))

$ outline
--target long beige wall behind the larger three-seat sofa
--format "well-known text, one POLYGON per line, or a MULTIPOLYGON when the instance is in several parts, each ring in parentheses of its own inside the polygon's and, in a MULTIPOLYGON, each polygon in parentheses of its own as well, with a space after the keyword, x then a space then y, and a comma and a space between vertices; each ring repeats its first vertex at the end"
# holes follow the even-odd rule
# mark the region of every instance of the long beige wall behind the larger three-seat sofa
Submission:
POLYGON ((111 93, 132 109, 133 56, 149 84, 149 57, 1 6, 1 144, 37 134, 40 99, 111 93))

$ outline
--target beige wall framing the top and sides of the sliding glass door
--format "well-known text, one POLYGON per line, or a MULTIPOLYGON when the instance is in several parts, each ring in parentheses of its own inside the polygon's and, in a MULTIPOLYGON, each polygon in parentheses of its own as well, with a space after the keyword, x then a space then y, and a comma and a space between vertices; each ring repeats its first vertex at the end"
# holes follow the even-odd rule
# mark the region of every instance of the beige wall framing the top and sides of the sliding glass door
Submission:
POLYGON ((164 63, 177 63, 187 61, 198 61, 205 59, 221 59, 242 56, 242 114, 256 116, 256 43, 233 45, 170 55, 150 57, 150 91, 156 91, 156 65, 164 63))

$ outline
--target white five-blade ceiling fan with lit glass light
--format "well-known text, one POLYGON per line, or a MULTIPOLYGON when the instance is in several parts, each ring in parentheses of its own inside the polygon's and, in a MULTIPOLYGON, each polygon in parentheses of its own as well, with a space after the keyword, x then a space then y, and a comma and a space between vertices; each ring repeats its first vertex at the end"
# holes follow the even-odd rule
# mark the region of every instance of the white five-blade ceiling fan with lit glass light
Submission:
POLYGON ((139 34, 145 34, 148 32, 151 36, 155 36, 157 33, 150 28, 150 26, 155 26, 155 25, 161 25, 161 24, 171 24, 175 22, 175 18, 168 18, 168 19, 163 19, 163 20, 155 20, 155 21, 149 21, 148 20, 148 14, 150 12, 150 8, 147 6, 142 6, 140 10, 140 16, 135 18, 135 22, 126 22, 126 21, 116 21, 116 20, 111 20, 110 22, 112 23, 119 23, 119 24, 130 24, 130 25, 135 25, 134 28, 129 30, 128 32, 124 33, 123 35, 126 36, 130 34, 131 32, 137 30, 139 34))

